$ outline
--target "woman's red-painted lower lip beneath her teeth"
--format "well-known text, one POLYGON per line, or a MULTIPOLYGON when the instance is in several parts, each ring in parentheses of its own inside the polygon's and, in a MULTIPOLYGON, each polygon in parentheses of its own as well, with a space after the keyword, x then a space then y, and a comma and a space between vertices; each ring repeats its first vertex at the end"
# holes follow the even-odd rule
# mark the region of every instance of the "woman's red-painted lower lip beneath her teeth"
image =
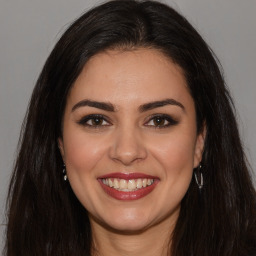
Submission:
POLYGON ((111 188, 107 185, 105 185, 101 179, 98 180, 100 185, 102 186, 103 190, 111 197, 117 199, 117 200, 138 200, 144 196, 147 196, 149 193, 151 193, 156 185, 158 184, 158 180, 155 180, 154 183, 150 186, 147 186, 145 188, 140 188, 135 191, 125 192, 125 191, 119 191, 114 188, 111 188))

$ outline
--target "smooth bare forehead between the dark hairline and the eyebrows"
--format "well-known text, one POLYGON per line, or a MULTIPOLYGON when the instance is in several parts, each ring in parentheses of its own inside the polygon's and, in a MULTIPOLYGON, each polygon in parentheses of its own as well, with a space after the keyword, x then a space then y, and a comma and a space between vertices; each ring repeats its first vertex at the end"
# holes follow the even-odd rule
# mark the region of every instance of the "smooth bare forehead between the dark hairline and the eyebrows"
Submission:
POLYGON ((154 49, 111 50, 87 62, 68 101, 90 98, 122 105, 169 97, 192 99, 182 69, 171 59, 154 49))

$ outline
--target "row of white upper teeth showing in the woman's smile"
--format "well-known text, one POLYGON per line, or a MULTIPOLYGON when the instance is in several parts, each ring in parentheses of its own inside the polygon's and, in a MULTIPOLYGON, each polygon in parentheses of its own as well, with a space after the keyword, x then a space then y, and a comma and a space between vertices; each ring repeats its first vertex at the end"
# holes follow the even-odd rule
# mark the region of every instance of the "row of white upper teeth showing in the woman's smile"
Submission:
POLYGON ((124 179, 102 179, 102 182, 111 187, 115 188, 117 190, 121 191, 133 191, 140 189, 142 187, 147 187, 153 184, 153 179, 132 179, 132 180, 124 180, 124 179))

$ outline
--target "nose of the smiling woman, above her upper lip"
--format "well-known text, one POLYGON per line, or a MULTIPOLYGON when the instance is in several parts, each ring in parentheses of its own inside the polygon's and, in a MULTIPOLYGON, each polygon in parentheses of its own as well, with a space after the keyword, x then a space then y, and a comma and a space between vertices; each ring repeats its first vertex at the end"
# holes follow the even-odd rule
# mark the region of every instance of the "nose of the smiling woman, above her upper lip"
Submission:
POLYGON ((115 131, 110 157, 116 162, 129 166, 147 157, 145 141, 139 131, 135 129, 120 129, 115 131))

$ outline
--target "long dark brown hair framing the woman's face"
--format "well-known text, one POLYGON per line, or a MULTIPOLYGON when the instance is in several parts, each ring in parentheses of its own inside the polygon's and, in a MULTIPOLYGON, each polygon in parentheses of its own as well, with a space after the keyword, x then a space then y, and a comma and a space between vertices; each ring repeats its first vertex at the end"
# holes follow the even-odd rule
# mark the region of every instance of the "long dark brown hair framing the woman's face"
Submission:
POLYGON ((57 140, 70 88, 107 49, 157 49, 178 64, 207 128, 204 187, 192 179, 172 234, 172 256, 256 255, 256 195, 235 110, 213 52, 191 24, 154 1, 110 1, 78 18, 39 76, 25 117, 7 201, 7 256, 90 255, 87 211, 64 183, 57 140))

